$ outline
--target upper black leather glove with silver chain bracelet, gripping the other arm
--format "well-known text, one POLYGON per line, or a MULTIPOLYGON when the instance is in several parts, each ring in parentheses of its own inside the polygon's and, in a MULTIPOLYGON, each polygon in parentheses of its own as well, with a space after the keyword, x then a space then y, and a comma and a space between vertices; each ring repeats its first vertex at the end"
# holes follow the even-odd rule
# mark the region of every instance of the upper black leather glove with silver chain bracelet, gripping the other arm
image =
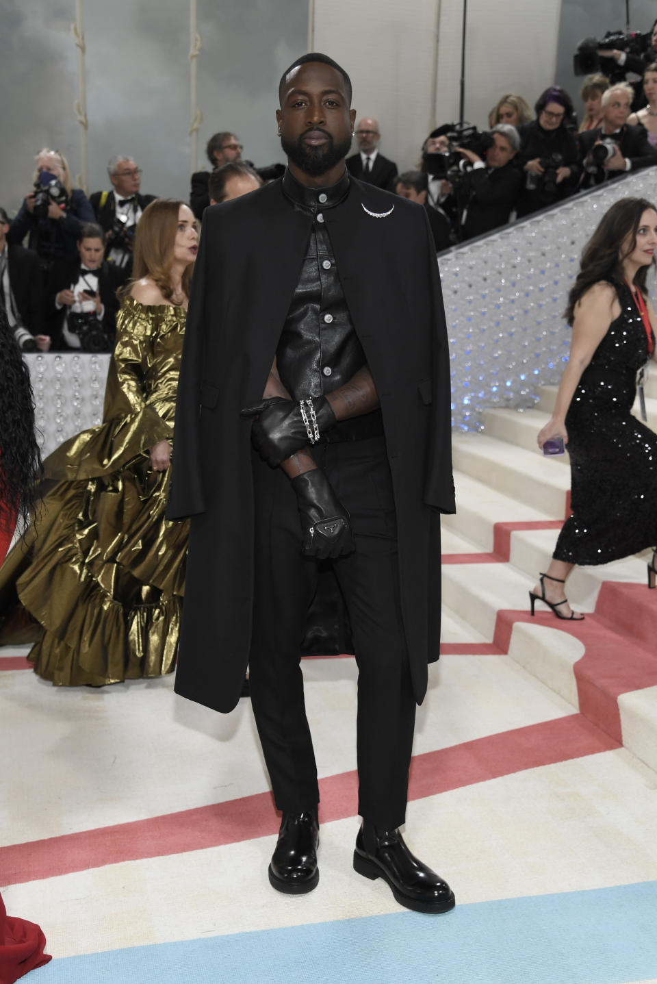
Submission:
MULTIPOLYGON (((320 434, 324 434, 337 422, 335 414, 326 397, 314 398, 313 408, 320 434)), ((312 428, 310 408, 306 413, 312 428)), ((240 410, 240 415, 257 417, 253 422, 251 440, 261 458, 273 468, 310 443, 298 402, 271 397, 256 406, 245 407, 240 410)))

